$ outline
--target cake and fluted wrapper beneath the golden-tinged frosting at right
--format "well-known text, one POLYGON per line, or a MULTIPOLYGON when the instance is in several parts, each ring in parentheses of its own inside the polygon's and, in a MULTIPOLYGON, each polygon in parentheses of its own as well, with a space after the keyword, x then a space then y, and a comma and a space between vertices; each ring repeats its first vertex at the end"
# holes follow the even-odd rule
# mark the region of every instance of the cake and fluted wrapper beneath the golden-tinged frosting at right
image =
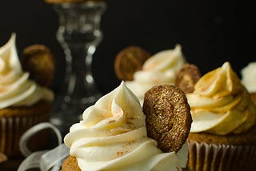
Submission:
POLYGON ((189 161, 192 171, 251 170, 256 168, 256 129, 239 135, 190 133, 189 161))

